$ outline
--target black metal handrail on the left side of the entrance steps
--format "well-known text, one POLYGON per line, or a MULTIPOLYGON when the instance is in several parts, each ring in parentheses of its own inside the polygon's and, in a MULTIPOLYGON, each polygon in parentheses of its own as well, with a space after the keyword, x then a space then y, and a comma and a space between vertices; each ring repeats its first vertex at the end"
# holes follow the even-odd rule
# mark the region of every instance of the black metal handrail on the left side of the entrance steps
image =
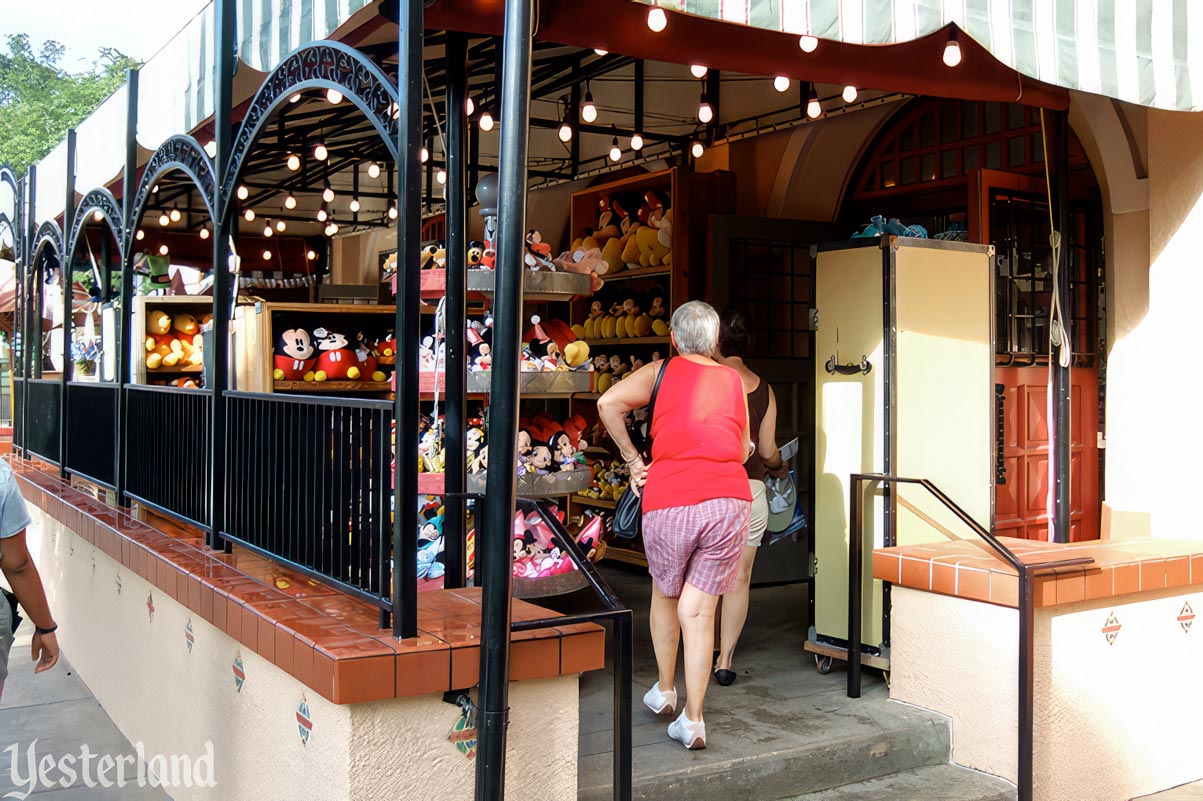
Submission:
POLYGON ((630 730, 630 702, 632 681, 634 675, 634 616, 623 605, 605 578, 598 572, 597 566, 581 552, 581 548, 564 529, 556 514, 549 508, 546 500, 532 498, 518 498, 518 509, 525 514, 538 512, 551 529, 552 536, 559 550, 571 558, 576 569, 580 570, 588 581, 589 587, 597 593, 605 605, 604 610, 597 612, 580 612, 576 615, 562 615, 559 617, 543 617, 537 621, 516 621, 510 624, 511 631, 533 631, 535 629, 550 629, 559 625, 573 625, 575 623, 604 623, 609 621, 610 628, 610 653, 614 660, 614 799, 615 801, 630 801, 632 794, 632 730, 630 730))

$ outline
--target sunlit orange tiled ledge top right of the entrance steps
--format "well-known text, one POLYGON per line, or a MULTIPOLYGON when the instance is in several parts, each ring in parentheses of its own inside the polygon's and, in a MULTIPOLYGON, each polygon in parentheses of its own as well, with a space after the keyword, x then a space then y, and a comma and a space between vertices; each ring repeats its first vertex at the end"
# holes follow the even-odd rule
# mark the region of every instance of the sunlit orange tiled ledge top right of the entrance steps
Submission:
MULTIPOLYGON (((1036 578, 1036 606, 1203 585, 1203 542, 1122 540, 1042 542, 1000 536, 1031 564, 1090 557, 1094 564, 1056 568, 1036 578)), ((902 587, 1018 606, 1019 577, 979 540, 949 540, 873 551, 873 577, 902 587)))

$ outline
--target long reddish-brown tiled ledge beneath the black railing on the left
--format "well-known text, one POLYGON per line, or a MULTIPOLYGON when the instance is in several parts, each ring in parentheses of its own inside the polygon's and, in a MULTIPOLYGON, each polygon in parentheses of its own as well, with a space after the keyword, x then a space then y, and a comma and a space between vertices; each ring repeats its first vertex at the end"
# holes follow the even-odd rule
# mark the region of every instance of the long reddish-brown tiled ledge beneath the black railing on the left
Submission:
MULTIPOLYGON (((480 589, 419 593, 419 636, 396 640, 371 604, 242 548, 211 551, 195 532, 137 520, 37 463, 10 463, 28 503, 336 704, 429 695, 479 680, 480 589)), ((514 601, 515 621, 556 615, 514 601)), ((511 642, 514 681, 605 664, 605 633, 592 623, 516 633, 511 642)))

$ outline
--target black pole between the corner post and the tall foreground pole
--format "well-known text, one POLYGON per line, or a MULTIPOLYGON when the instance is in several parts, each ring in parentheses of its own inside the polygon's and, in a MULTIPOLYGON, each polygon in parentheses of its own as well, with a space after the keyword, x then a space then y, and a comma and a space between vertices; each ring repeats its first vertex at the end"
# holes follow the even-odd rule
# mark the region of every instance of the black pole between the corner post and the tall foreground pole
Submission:
POLYGON ((446 41, 446 219, 448 219, 448 293, 446 293, 446 517, 444 520, 444 558, 446 574, 443 586, 463 587, 467 578, 467 506, 463 499, 467 482, 464 450, 467 405, 467 363, 464 327, 468 314, 468 137, 466 107, 468 96, 468 37, 448 34, 446 41))

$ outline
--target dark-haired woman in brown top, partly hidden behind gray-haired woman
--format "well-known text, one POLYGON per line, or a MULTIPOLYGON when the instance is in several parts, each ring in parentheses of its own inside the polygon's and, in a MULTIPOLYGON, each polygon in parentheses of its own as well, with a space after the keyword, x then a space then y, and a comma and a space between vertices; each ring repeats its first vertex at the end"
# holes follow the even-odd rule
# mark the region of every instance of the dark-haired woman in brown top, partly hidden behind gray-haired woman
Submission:
POLYGON ((789 473, 789 467, 781 458, 781 451, 777 450, 777 398, 769 382, 743 363, 751 346, 752 331, 747 318, 739 310, 728 308, 723 312, 718 327, 718 361, 740 375, 747 398, 748 426, 755 451, 743 463, 748 488, 752 493, 748 541, 740 554, 735 585, 723 595, 719 609, 719 648, 718 659, 715 661, 715 678, 723 687, 735 681, 736 674, 731 670, 731 660, 735 655, 735 645, 740 640, 743 623, 748 616, 752 565, 769 524, 769 503, 765 500, 764 476, 766 473, 775 476, 784 476, 789 473))

